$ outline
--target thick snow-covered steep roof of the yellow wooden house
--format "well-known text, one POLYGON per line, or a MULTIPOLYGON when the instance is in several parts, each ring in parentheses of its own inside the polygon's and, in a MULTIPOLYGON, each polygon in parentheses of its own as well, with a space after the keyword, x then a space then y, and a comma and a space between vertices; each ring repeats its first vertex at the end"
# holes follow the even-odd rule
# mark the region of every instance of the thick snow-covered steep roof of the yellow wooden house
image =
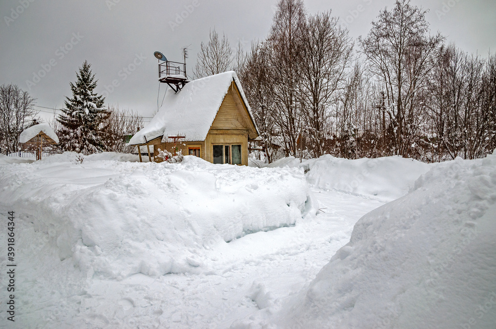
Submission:
POLYGON ((128 145, 145 144, 161 136, 164 142, 178 134, 186 136, 186 141, 205 140, 233 81, 258 132, 240 80, 230 71, 188 82, 177 94, 168 88, 162 107, 146 127, 132 136, 128 145))

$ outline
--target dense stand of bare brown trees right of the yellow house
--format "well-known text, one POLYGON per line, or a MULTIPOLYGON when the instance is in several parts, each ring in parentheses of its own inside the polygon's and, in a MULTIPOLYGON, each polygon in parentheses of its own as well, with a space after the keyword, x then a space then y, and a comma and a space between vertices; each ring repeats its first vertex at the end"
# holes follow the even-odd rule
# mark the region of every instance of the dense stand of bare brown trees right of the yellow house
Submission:
POLYGON ((268 38, 237 65, 262 145, 427 162, 493 152, 496 55, 442 45, 425 16, 396 0, 359 39, 365 60, 351 65, 352 40, 329 12, 308 16, 302 0, 279 0, 268 38))

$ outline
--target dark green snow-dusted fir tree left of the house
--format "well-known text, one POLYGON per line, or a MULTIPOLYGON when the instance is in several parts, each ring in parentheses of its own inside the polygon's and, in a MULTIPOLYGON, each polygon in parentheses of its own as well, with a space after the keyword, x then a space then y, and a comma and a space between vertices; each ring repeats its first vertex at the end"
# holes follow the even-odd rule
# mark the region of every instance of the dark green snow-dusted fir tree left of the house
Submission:
POLYGON ((105 98, 93 92, 97 80, 90 66, 85 60, 79 68, 77 81, 70 83, 72 98, 66 97, 65 109, 57 118, 61 124, 59 136, 63 151, 85 155, 105 151, 103 122, 109 111, 103 106, 105 98))

